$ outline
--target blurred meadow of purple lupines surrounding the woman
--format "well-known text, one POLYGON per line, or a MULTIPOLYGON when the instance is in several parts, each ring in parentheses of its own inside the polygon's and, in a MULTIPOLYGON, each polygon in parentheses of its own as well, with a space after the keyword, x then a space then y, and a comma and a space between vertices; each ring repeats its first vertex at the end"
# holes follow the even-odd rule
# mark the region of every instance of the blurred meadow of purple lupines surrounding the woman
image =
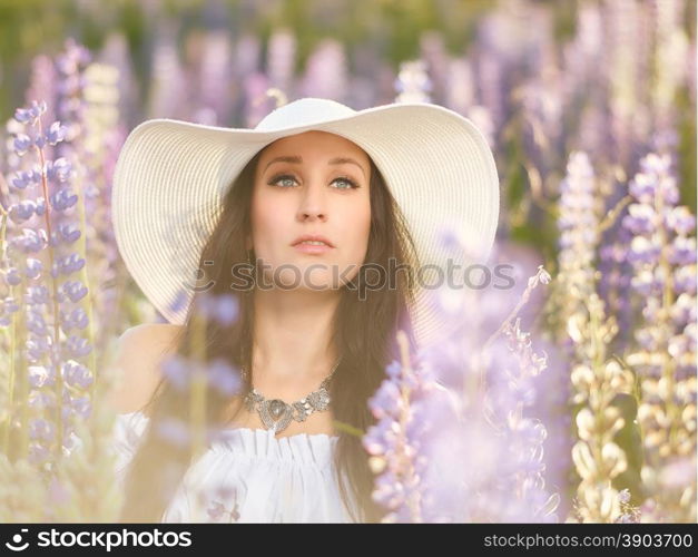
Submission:
POLYGON ((128 131, 254 127, 306 96, 442 105, 500 173, 514 289, 444 295, 459 333, 403 342, 372 399, 386 520, 695 522, 688 0, 0 0, 0 520, 121 502, 106 363, 163 321, 110 224, 128 131))

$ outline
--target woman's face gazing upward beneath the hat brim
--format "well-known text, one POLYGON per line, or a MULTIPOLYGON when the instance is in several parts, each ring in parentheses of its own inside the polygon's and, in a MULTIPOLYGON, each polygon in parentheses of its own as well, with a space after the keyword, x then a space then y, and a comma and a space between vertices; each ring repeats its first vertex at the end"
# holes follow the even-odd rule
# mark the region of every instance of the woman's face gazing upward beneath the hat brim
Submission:
POLYGON ((327 131, 277 139, 259 156, 248 247, 265 265, 265 284, 337 289, 354 277, 368 246, 368 155, 327 131), (298 244, 305 235, 330 245, 298 244))

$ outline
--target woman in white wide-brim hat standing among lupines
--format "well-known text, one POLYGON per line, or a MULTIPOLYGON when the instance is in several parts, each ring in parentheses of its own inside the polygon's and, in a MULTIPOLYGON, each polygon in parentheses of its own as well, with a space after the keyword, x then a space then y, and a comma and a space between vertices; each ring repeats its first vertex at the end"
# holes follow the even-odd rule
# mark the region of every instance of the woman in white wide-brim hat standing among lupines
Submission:
POLYGON ((367 401, 399 330, 412 346, 438 338, 421 266, 445 260, 440 225, 480 248, 456 263, 489 252, 499 193, 483 136, 434 105, 314 98, 254 130, 149 120, 121 150, 112 205, 126 265, 169 322, 119 343, 121 519, 380 521, 367 401), (229 296, 235 319, 197 328, 229 296), (206 383, 220 436, 194 461, 164 427, 190 418, 190 383, 161 365, 174 354, 242 371, 235 394, 206 383))

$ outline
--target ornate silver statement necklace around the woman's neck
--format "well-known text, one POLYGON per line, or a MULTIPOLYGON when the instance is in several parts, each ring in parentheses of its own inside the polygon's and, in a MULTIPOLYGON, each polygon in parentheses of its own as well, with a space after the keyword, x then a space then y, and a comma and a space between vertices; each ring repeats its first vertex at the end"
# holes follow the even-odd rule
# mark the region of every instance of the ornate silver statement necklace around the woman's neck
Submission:
MULTIPOLYGON (((275 433, 278 433, 288 427, 291 420, 302 422, 305 421, 313 412, 323 412, 324 410, 327 410, 331 402, 327 387, 330 385, 330 381, 340 365, 341 360, 342 358, 337 360, 337 363, 335 363, 334 368, 330 372, 330 375, 323 380, 316 391, 313 391, 303 399, 291 404, 281 399, 266 400, 266 398, 253 387, 247 394, 245 394, 244 399, 247 411, 252 412, 253 410, 256 410, 264 427, 266 429, 273 429, 275 433)), ((247 381, 249 377, 247 370, 242 368, 240 372, 243 378, 247 381)))

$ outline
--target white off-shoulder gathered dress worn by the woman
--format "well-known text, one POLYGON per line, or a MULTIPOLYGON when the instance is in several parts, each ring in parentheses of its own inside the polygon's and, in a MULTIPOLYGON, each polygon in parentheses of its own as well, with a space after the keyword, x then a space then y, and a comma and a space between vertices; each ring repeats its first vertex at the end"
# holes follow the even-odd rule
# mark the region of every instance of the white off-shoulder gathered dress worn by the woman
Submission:
MULTIPOLYGON (((141 412, 116 417, 121 486, 148 420, 141 412)), ((277 438, 272 430, 224 429, 185 472, 160 521, 352 522, 335 479, 337 440, 324 433, 277 438)))

